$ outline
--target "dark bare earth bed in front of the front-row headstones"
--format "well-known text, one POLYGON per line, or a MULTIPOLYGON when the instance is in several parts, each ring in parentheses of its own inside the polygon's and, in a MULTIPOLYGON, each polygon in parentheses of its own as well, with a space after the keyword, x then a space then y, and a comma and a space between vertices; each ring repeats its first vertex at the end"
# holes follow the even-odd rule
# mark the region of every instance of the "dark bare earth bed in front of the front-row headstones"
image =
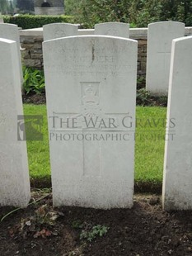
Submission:
MULTIPOLYGON (((136 195, 132 209, 95 210, 52 207, 48 191, 0 222, 0 255, 174 255, 192 254, 192 211, 166 212, 160 197, 136 195), (57 216, 57 219, 55 219, 57 216), (105 235, 88 241, 82 233, 101 225, 105 235)), ((12 211, 0 208, 0 217, 12 211)))

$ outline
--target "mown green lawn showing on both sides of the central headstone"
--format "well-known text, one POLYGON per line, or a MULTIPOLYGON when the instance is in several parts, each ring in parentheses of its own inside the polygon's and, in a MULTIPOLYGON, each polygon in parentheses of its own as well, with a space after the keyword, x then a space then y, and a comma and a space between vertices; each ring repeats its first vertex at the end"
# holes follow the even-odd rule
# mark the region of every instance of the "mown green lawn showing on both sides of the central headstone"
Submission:
MULTIPOLYGON (((27 141, 30 178, 35 183, 50 181, 49 137, 46 107, 24 105, 26 115, 43 115, 43 141, 27 141)), ((135 183, 138 187, 161 186, 164 156, 166 108, 137 107, 135 145, 135 183)))

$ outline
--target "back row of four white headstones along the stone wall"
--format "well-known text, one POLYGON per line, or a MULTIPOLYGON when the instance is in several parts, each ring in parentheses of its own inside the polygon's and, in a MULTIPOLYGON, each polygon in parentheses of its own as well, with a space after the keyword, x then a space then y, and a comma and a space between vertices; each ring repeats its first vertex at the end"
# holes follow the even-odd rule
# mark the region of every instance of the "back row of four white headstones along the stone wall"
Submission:
MULTIPOLYGON (((96 24, 93 33, 95 35, 129 38, 129 24, 120 22, 96 24)), ((44 26, 44 40, 53 40, 60 37, 77 35, 78 26, 73 24, 53 23, 44 26)), ((171 42, 173 39, 182 36, 185 36, 184 23, 162 21, 149 24, 146 89, 151 92, 152 95, 168 94, 171 42)), ((20 49, 20 40, 16 25, 0 24, 0 37, 16 40, 18 43, 18 50, 20 49)))

